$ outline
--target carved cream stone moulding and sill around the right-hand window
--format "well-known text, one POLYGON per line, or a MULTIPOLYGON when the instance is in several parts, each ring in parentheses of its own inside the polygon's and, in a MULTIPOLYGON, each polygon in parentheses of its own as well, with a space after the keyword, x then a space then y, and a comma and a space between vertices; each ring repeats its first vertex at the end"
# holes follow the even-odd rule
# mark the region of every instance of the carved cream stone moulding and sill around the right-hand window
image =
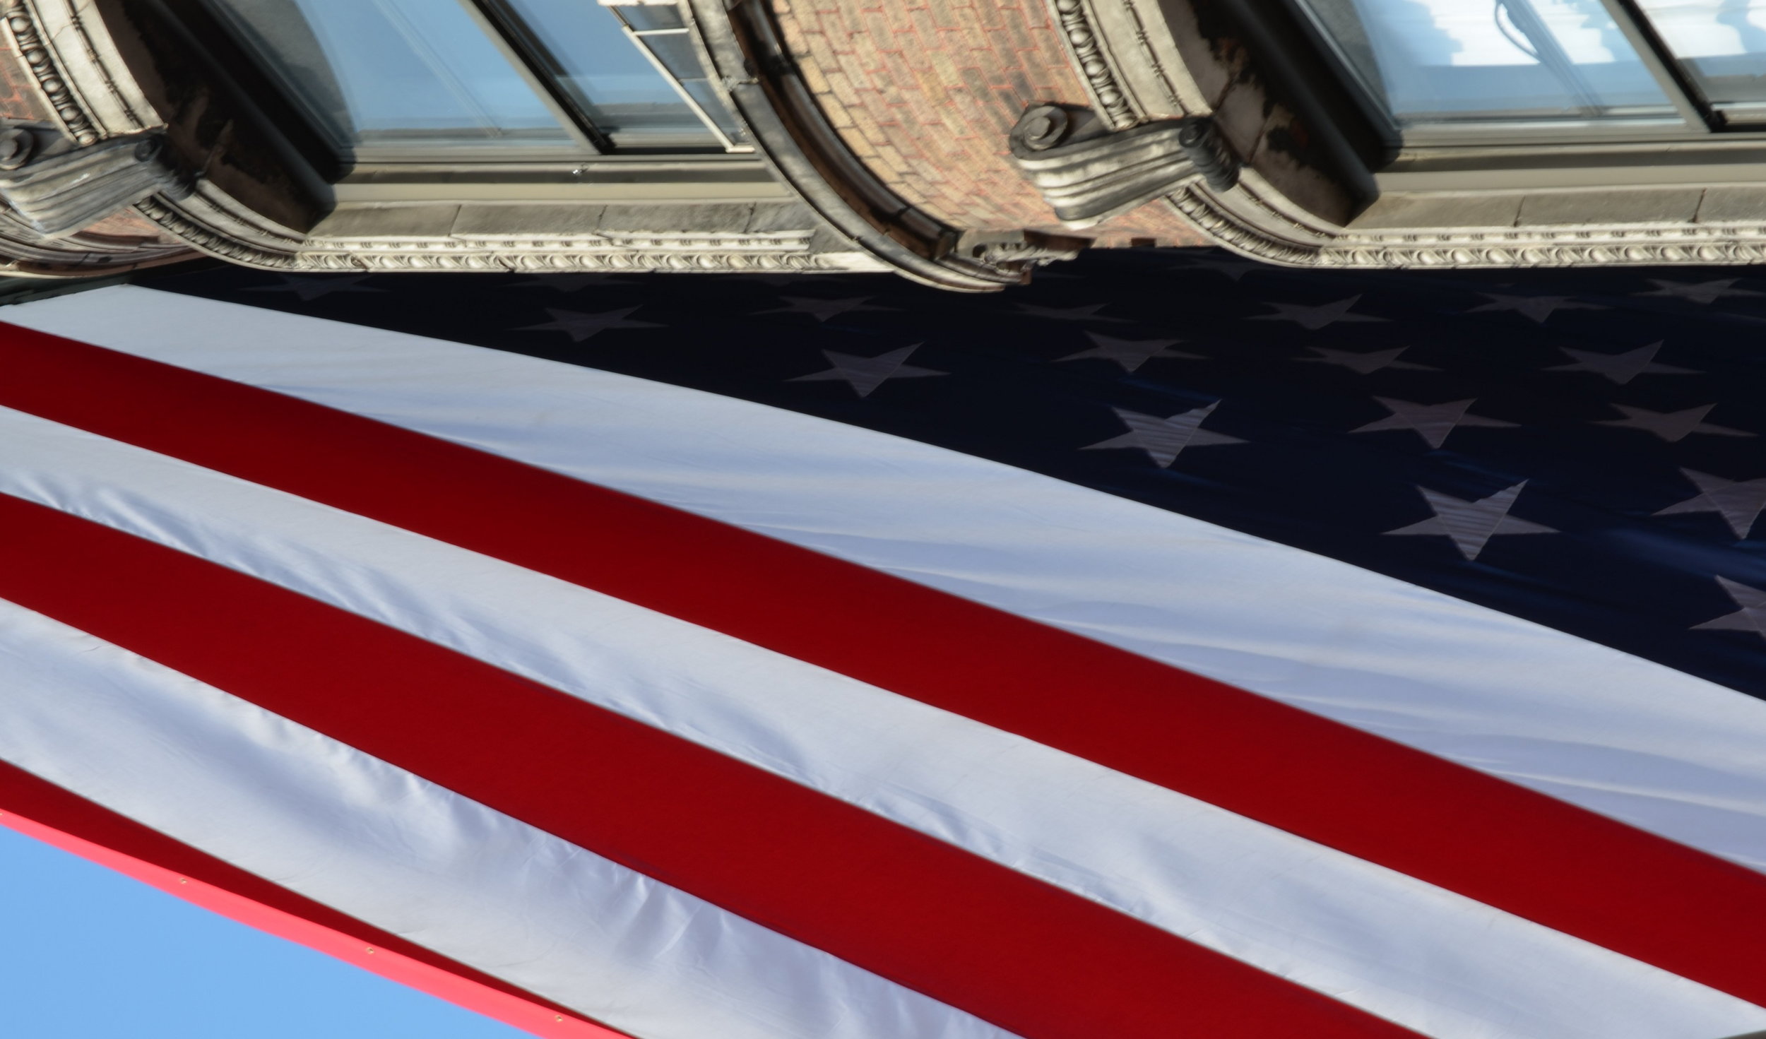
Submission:
MULTIPOLYGON (((1300 267, 1766 262, 1766 134, 1687 134, 1669 147, 1415 148, 1379 170, 1365 163, 1340 175, 1337 191, 1362 198, 1330 212, 1307 205, 1307 186, 1294 189, 1293 170, 1259 161, 1273 150, 1272 131, 1282 129, 1275 120, 1234 125, 1247 113, 1280 110, 1280 101, 1247 83, 1236 55, 1197 46, 1210 9, 1256 18, 1279 0, 1047 2, 1098 111, 1118 127, 1180 117, 1224 124, 1247 157, 1240 184, 1224 193, 1190 184, 1169 201, 1247 256, 1300 267), (1358 175, 1365 180, 1353 184, 1358 175)), ((1264 42, 1250 37, 1236 42, 1264 42)), ((1284 60, 1268 49, 1259 57, 1284 60)), ((1319 113, 1307 115, 1316 129, 1330 129, 1319 113)))

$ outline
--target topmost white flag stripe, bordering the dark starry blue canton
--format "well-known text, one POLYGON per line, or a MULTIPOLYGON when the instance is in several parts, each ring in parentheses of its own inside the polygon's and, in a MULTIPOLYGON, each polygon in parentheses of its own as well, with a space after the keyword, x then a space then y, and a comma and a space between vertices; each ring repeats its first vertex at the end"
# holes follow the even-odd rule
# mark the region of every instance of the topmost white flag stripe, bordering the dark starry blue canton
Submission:
POLYGON ((1766 703, 1349 564, 855 426, 381 329, 134 286, 7 320, 735 523, 1766 869, 1766 703))

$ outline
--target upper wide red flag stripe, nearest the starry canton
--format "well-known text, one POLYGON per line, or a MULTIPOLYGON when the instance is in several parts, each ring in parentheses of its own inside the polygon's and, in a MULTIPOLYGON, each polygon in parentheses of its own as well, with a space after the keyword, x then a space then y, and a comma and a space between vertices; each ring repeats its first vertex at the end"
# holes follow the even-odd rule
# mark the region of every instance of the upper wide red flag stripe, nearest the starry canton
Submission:
POLYGON ((1766 876, 1335 721, 736 527, 14 329, 0 405, 606 592, 1766 1005, 1766 876))

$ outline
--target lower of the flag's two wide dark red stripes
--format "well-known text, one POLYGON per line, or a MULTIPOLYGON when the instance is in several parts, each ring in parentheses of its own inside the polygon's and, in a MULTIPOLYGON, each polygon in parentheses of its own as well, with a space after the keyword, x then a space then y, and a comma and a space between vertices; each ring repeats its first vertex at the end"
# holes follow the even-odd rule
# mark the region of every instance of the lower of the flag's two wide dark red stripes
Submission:
POLYGON ((1413 1035, 699 744, 4 495, 0 597, 1026 1037, 1413 1035))

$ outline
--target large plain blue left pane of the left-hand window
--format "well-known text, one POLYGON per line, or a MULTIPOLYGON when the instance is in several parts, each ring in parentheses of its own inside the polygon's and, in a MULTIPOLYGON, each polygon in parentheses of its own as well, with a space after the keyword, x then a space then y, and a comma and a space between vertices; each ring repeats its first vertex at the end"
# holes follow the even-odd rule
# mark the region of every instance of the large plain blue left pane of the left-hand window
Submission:
POLYGON ((208 0, 344 154, 572 148, 459 0, 208 0))

